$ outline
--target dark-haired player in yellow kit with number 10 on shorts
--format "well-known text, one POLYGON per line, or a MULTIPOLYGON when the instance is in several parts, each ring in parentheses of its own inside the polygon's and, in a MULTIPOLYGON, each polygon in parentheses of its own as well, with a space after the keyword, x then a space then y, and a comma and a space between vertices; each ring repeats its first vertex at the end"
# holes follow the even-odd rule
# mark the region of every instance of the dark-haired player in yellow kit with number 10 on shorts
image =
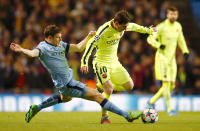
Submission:
MULTIPOLYGON (((88 58, 96 48, 93 59, 93 69, 97 76, 97 88, 103 89, 103 95, 109 99, 113 92, 129 91, 133 89, 133 81, 120 64, 117 57, 117 49, 120 38, 125 31, 135 31, 152 34, 155 28, 147 28, 135 23, 130 23, 128 12, 121 10, 115 14, 114 19, 106 22, 97 30, 96 36, 88 41, 86 50, 81 59, 81 72, 88 73, 88 58)), ((102 109, 102 124, 111 124, 108 112, 102 109)))

